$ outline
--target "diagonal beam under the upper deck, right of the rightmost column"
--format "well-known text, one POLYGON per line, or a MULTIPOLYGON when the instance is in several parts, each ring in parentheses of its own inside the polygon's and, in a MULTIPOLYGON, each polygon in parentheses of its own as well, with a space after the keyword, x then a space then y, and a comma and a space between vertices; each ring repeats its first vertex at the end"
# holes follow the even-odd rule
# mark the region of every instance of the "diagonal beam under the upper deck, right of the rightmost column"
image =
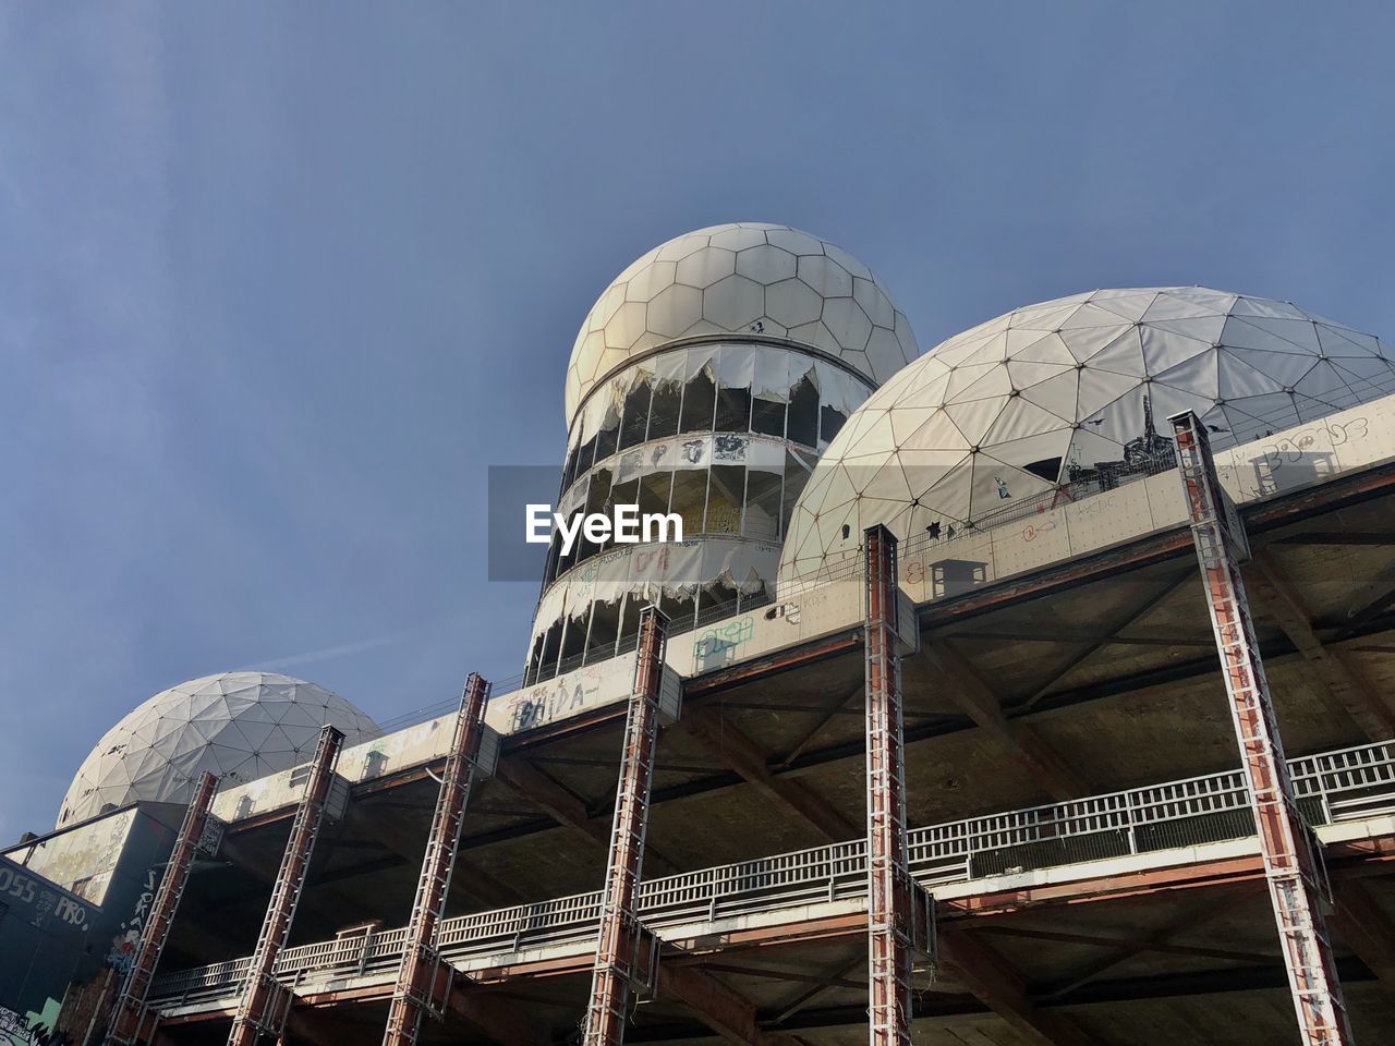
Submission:
POLYGON ((1274 555, 1268 549, 1256 552, 1247 575, 1261 608, 1297 647, 1322 688, 1346 710, 1366 738, 1384 741, 1395 734, 1395 707, 1371 686, 1350 654, 1331 650, 1318 639, 1313 629, 1313 612, 1274 555))

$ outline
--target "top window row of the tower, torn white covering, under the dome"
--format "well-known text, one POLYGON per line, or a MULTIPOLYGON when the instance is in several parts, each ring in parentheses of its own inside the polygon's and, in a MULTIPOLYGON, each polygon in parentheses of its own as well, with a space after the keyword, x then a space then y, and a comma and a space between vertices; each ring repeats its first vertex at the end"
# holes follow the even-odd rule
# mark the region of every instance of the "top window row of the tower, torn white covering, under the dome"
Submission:
POLYGON ((591 393, 572 432, 562 488, 617 450, 685 432, 755 432, 823 448, 868 393, 841 368, 787 349, 675 349, 591 393))

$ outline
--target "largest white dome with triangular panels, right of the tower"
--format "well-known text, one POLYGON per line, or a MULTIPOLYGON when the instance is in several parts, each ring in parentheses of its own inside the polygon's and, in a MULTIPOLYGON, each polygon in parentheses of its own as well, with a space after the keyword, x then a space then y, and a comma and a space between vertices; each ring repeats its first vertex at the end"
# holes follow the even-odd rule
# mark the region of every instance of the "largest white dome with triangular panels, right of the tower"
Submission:
POLYGON ((949 537, 1081 477, 1127 480, 1172 453, 1168 417, 1183 410, 1223 448, 1389 392, 1388 344, 1282 301, 1154 287, 1018 308, 854 411, 795 505, 780 583, 844 558, 876 523, 949 537))

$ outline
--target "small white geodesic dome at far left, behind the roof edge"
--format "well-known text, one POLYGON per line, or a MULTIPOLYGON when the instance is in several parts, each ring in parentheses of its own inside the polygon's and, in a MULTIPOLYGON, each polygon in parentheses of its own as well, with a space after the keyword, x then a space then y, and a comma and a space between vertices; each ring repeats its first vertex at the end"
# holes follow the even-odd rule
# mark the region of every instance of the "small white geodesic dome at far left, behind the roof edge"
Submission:
POLYGON ((381 736, 371 718, 322 686, 271 672, 223 672, 173 686, 117 722, 82 761, 57 827, 137 799, 188 802, 202 771, 232 785, 315 753, 321 727, 345 745, 381 736))

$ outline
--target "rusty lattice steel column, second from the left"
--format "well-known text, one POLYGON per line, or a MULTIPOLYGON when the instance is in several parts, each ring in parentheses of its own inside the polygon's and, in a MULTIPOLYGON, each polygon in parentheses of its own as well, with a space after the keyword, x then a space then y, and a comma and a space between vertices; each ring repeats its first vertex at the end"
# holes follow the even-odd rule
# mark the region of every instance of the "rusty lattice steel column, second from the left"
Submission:
POLYGON ((310 780, 306 781, 306 795, 296 808, 296 819, 286 840, 286 852, 280 859, 280 870, 272 886, 271 902, 262 919, 257 947, 243 980, 241 999, 233 1017, 227 1046, 255 1046, 264 1035, 280 1036, 290 1011, 290 989, 282 985, 273 971, 280 950, 290 936, 290 925, 296 919, 296 905, 306 886, 310 859, 314 855, 315 838, 325 814, 325 801, 333 782, 335 764, 345 735, 333 727, 319 732, 315 759, 311 763, 310 780))

